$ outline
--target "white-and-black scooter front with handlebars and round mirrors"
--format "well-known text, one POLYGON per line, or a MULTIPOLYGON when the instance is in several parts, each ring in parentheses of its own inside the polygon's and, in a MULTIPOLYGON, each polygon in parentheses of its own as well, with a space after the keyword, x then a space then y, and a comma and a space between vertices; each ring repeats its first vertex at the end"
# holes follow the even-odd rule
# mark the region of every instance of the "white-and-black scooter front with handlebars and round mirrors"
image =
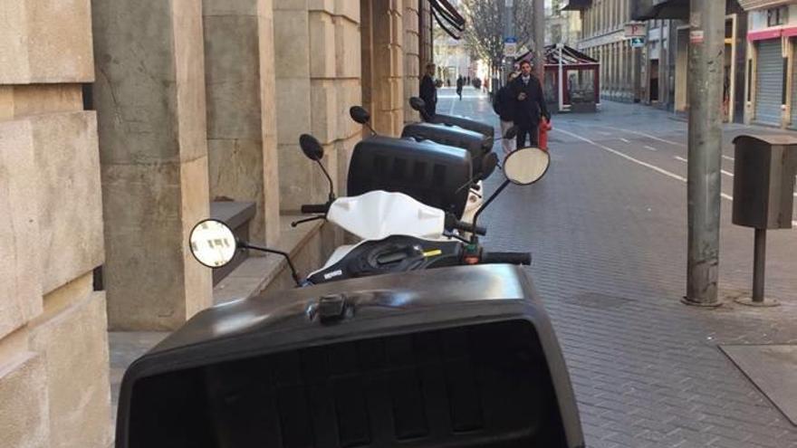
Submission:
MULTIPOLYGON (((328 176, 320 164, 323 148, 318 140, 305 134, 300 138, 300 144, 304 154, 319 162, 328 176)), ((509 166, 504 167, 507 180, 485 202, 485 206, 511 182, 519 185, 536 182, 545 174, 549 160, 546 153, 536 148, 523 148, 507 157, 509 166)), ((529 253, 485 252, 476 236, 484 235, 485 228, 462 222, 450 212, 424 205, 402 193, 374 190, 352 197, 330 197, 331 200, 325 204, 302 205, 304 212, 319 213, 302 222, 327 219, 361 241, 339 247, 321 269, 311 272, 304 281, 299 280, 286 254, 235 240, 232 231, 218 221, 206 220, 197 224, 191 234, 191 251, 199 262, 213 268, 230 262, 235 256, 235 248, 278 253, 288 258, 293 279, 301 286, 460 264, 531 263, 529 253), (452 240, 454 231, 466 232, 472 237, 465 240, 455 236, 456 239, 452 240)))

